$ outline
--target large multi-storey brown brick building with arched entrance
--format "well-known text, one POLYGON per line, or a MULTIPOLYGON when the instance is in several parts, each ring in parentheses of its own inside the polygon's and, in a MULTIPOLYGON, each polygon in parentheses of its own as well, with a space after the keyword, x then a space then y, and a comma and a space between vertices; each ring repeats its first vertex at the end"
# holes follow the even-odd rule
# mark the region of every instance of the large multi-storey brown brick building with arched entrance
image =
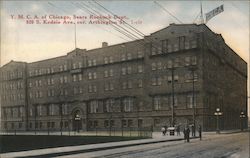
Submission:
POLYGON ((247 114, 247 64, 205 24, 170 24, 137 41, 11 61, 0 84, 4 130, 159 130, 193 119, 214 130, 216 108, 220 128, 233 129, 247 114))

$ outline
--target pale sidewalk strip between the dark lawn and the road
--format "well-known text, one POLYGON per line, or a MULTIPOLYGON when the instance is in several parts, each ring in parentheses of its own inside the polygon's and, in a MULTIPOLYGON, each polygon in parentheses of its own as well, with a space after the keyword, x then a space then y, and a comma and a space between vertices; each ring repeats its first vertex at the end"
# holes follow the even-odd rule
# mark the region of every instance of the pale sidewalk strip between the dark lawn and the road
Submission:
POLYGON ((47 149, 21 151, 21 152, 10 152, 10 153, 1 154, 0 156, 2 158, 55 157, 55 156, 71 155, 71 154, 77 154, 77 153, 93 152, 93 151, 99 151, 99 150, 115 149, 115 148, 121 148, 121 147, 129 147, 129 146, 135 146, 135 145, 144 145, 144 144, 152 144, 152 143, 168 142, 168 141, 171 142, 171 141, 180 141, 180 140, 183 140, 183 135, 162 136, 161 132, 154 132, 152 139, 141 139, 141 140, 132 140, 132 141, 100 143, 100 144, 90 144, 90 145, 80 145, 80 146, 67 146, 67 147, 47 148, 47 149))

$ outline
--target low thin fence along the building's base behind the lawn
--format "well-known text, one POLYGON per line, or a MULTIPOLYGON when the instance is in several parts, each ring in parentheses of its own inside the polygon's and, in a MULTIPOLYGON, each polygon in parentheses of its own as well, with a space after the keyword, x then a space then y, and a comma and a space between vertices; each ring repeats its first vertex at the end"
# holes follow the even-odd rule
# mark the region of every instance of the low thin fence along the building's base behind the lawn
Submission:
POLYGON ((90 128, 87 131, 60 131, 60 130, 3 130, 2 135, 61 135, 61 136, 122 136, 122 137, 145 137, 152 138, 152 127, 109 127, 109 128, 90 128))

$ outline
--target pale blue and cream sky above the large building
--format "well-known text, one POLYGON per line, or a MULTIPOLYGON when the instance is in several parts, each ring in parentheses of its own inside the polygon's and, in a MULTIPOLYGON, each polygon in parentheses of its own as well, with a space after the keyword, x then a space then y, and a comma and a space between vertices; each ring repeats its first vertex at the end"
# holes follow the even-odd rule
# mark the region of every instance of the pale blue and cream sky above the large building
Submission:
MULTIPOLYGON (((149 35, 159 29, 178 24, 174 17, 154 1, 99 1, 118 16, 126 16, 126 22, 143 34, 149 35), (133 22, 133 23, 132 23, 133 22), (135 23, 137 22, 137 23, 135 23)), ((197 23, 200 1, 157 1, 182 23, 197 23)), ((249 1, 202 1, 203 13, 224 5, 224 12, 208 21, 207 26, 222 34, 225 42, 249 63, 249 1)), ((89 16, 86 8, 102 12, 96 3, 77 1, 1 1, 1 55, 0 65, 10 60, 34 62, 66 55, 75 48, 74 24, 27 24, 29 16, 89 16), (85 8, 84 8, 85 6, 85 8), (86 7, 88 6, 88 7, 86 7), (12 19, 12 16, 15 17, 12 19)), ((101 47, 131 41, 111 25, 77 24, 76 45, 81 49, 101 47)))

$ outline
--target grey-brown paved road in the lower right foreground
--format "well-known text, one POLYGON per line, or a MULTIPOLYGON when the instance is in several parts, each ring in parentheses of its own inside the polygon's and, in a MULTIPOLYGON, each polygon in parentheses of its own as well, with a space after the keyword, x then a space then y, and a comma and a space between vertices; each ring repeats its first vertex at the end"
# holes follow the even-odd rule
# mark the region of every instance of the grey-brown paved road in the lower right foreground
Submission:
POLYGON ((61 156, 68 158, 249 158, 249 133, 210 134, 202 141, 139 145, 61 156))

